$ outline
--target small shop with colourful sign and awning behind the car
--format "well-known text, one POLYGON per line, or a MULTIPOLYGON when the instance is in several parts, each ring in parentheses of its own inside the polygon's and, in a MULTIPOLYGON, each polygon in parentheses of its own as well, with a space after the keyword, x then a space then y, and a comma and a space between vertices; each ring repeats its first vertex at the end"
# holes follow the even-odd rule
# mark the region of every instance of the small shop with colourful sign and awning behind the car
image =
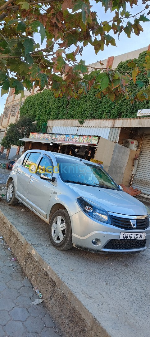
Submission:
POLYGON ((91 160, 95 156, 99 137, 31 132, 29 138, 25 137, 20 141, 25 142, 24 152, 39 149, 91 160))

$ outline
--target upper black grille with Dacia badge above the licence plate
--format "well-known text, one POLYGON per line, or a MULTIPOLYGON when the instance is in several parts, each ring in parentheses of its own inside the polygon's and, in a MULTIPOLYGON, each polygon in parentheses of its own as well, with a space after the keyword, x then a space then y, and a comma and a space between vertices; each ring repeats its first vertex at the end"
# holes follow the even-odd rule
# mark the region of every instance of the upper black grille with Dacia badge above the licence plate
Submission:
MULTIPOLYGON (((134 229, 134 230, 141 230, 141 229, 146 229, 149 227, 149 218, 148 216, 145 219, 137 219, 137 226, 136 228, 133 228, 130 222, 130 219, 128 218, 120 218, 118 216, 114 216, 114 215, 109 215, 110 219, 111 219, 111 224, 115 227, 119 227, 122 229, 134 229)), ((131 220, 135 220, 132 219, 131 220)))

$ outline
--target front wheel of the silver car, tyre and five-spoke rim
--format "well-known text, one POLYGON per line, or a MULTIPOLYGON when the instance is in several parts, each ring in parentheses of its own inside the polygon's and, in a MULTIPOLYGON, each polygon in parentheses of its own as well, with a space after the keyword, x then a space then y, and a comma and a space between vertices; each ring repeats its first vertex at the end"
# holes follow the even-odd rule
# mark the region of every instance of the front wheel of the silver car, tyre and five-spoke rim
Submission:
POLYGON ((56 211, 50 219, 49 237, 52 245, 59 250, 72 248, 71 221, 67 210, 56 211))

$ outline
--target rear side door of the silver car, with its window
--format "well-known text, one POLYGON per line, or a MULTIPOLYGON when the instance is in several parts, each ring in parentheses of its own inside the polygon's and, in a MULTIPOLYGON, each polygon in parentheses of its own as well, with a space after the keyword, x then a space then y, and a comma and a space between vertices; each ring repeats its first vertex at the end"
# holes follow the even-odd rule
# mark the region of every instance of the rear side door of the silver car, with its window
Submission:
POLYGON ((29 179, 39 157, 40 152, 28 152, 16 172, 16 196, 22 201, 26 201, 29 179))

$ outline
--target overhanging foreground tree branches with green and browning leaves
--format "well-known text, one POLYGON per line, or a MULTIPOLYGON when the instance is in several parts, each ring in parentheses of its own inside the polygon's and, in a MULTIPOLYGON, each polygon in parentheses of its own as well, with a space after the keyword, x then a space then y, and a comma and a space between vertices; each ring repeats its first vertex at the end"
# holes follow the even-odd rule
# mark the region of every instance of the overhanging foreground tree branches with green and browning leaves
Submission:
POLYGON ((143 101, 150 99, 150 52, 145 58, 146 82, 137 81, 141 69, 131 60, 126 72, 104 68, 101 61, 92 71, 82 60, 82 51, 88 44, 96 53, 109 44, 115 46, 114 35, 124 32, 139 35, 142 22, 150 21, 148 0, 93 0, 105 9, 105 18, 98 18, 89 0, 0 0, 0 86, 1 93, 15 88, 15 94, 33 85, 43 90, 51 88, 55 97, 79 96, 93 86, 97 97, 107 95, 112 101, 123 96, 143 101), (127 7, 137 6, 133 14, 127 7), (107 12, 112 19, 107 20, 107 12), (35 33, 41 43, 35 42, 35 33), (111 36, 111 34, 113 36, 111 36), (44 47, 43 47, 44 45, 44 47), (77 61, 77 54, 81 59, 77 61), (132 85, 137 84, 136 92, 132 85))

